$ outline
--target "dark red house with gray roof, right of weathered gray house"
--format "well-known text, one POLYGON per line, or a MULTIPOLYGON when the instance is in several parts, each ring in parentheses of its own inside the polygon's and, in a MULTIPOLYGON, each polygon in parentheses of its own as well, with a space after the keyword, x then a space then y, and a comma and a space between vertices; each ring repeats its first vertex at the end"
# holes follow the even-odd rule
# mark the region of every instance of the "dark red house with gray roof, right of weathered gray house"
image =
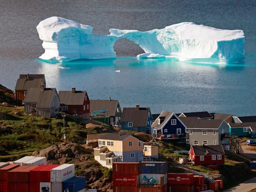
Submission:
POLYGON ((62 111, 69 115, 79 115, 90 118, 90 100, 86 91, 59 91, 60 106, 62 111))

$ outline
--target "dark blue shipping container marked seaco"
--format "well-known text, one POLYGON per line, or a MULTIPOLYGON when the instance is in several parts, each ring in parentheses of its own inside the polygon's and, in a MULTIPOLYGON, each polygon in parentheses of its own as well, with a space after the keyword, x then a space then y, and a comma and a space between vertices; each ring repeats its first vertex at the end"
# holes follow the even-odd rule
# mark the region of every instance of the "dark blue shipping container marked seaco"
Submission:
POLYGON ((140 162, 140 173, 168 173, 168 162, 140 162))

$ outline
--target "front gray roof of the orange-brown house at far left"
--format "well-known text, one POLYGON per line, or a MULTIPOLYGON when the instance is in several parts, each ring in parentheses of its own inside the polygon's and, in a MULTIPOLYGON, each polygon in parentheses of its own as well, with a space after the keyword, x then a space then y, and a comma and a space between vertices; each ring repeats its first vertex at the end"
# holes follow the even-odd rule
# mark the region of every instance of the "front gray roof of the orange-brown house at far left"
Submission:
POLYGON ((17 79, 15 90, 28 90, 28 88, 40 88, 42 79, 17 79))

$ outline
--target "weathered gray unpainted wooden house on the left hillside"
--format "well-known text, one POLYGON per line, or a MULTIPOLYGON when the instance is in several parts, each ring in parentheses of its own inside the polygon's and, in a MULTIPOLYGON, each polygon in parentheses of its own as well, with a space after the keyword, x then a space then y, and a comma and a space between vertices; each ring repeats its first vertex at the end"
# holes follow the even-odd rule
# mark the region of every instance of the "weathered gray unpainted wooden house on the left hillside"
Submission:
POLYGON ((43 117, 56 117, 60 98, 55 88, 29 88, 24 100, 25 113, 43 117))

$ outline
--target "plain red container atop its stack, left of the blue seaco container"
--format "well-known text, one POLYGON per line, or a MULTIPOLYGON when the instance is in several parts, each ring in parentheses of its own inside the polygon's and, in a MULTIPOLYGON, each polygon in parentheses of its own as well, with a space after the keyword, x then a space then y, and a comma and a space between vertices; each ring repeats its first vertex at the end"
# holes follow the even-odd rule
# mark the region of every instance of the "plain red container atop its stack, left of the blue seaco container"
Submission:
POLYGON ((115 162, 112 167, 113 174, 140 174, 140 163, 115 162))

